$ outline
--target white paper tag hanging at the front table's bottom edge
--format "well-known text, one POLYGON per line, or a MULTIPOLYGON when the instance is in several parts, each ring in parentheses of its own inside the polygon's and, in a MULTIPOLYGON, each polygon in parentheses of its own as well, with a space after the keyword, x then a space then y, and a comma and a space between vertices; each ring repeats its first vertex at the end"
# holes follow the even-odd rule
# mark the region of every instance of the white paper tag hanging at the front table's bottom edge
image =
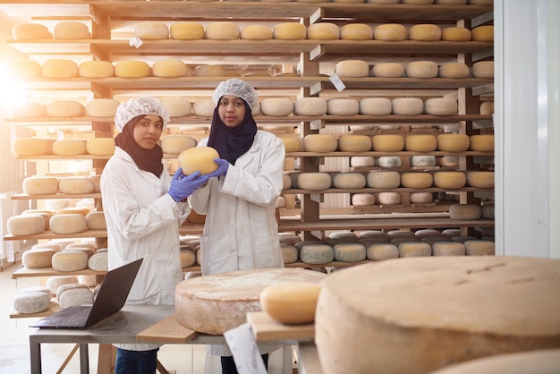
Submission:
POLYGON ((267 374, 265 363, 260 357, 259 347, 248 323, 225 331, 224 337, 233 353, 233 361, 239 374, 267 374))

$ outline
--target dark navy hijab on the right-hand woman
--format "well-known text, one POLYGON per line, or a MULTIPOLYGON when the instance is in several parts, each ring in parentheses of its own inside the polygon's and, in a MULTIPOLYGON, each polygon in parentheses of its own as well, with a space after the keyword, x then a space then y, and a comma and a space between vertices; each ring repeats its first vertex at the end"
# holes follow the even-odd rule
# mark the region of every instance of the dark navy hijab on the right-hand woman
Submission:
POLYGON ((257 133, 257 123, 253 119, 250 106, 245 100, 242 99, 242 101, 245 106, 245 116, 242 123, 235 127, 227 127, 218 114, 218 107, 220 106, 218 100, 212 117, 210 137, 208 138, 208 147, 216 149, 220 158, 224 158, 232 165, 235 165, 237 158, 250 149, 257 133))

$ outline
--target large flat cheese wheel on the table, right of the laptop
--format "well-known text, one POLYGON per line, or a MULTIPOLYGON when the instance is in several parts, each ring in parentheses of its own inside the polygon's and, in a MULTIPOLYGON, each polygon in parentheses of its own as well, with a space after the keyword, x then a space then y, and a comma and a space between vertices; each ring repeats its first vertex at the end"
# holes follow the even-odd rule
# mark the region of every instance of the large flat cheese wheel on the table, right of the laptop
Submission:
POLYGON ((175 317, 183 327, 222 335, 245 323, 248 312, 261 310, 260 293, 267 286, 320 284, 325 276, 298 268, 267 268, 193 277, 175 287, 175 317))

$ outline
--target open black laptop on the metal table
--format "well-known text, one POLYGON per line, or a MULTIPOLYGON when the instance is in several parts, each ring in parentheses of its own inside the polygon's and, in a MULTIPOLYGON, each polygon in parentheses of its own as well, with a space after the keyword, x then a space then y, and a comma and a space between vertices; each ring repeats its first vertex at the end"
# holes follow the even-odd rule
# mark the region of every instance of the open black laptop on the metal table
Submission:
POLYGON ((92 305, 59 310, 44 319, 39 319, 30 327, 86 328, 115 314, 123 308, 141 263, 142 259, 137 259, 130 264, 108 271, 92 305))

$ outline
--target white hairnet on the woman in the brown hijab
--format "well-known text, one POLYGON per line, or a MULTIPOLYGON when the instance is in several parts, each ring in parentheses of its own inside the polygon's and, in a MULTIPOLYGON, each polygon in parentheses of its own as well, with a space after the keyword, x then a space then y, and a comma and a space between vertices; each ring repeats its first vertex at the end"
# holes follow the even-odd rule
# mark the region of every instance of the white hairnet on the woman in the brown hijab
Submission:
POLYGON ((158 115, 164 123, 164 129, 169 123, 169 113, 159 99, 140 96, 131 98, 116 108, 115 126, 117 130, 123 132, 124 125, 139 115, 158 115))

